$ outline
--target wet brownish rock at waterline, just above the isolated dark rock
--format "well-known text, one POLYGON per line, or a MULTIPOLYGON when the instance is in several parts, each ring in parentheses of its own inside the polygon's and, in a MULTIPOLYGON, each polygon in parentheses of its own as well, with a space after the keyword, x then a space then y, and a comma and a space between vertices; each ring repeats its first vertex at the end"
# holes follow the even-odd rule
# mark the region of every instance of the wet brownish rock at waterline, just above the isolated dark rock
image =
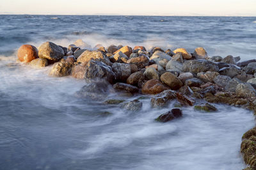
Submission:
POLYGON ((173 90, 164 90, 151 98, 151 106, 153 108, 161 108, 168 104, 169 101, 176 98, 176 92, 173 90))

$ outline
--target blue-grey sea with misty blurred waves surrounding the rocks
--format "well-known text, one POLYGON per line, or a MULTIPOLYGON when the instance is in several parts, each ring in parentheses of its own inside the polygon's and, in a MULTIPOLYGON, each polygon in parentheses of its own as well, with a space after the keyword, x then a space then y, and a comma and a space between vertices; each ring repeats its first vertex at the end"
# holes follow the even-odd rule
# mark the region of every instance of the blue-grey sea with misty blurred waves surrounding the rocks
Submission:
MULTIPOLYGON (((152 17, 98 15, 0 15, 0 169, 233 170, 245 166, 243 133, 255 126, 252 111, 214 104, 204 113, 183 107, 183 117, 154 119, 177 106, 127 111, 75 94, 86 82, 48 76, 17 62, 24 44, 52 41, 186 48, 209 56, 256 58, 256 17, 152 17), (106 114, 108 113, 108 114, 106 114)), ((111 99, 109 94, 106 99, 111 99)), ((203 101, 198 101, 198 103, 203 101)))

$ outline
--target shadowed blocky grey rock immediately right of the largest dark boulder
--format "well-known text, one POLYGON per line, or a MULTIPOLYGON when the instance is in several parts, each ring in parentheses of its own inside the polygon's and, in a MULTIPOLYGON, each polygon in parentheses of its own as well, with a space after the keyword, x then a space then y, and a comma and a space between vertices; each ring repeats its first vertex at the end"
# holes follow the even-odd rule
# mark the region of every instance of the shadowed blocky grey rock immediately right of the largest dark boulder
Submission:
POLYGON ((113 72, 116 74, 116 80, 126 81, 127 78, 131 75, 130 64, 122 64, 115 62, 112 65, 113 72))

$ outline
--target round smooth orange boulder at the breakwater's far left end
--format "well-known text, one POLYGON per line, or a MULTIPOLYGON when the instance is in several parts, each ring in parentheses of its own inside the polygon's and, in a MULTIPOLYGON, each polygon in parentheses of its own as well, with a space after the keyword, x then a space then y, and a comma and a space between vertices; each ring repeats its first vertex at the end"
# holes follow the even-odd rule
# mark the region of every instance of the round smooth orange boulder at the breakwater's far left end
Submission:
POLYGON ((21 62, 31 62, 38 58, 38 50, 33 45, 22 45, 18 50, 18 59, 21 62))

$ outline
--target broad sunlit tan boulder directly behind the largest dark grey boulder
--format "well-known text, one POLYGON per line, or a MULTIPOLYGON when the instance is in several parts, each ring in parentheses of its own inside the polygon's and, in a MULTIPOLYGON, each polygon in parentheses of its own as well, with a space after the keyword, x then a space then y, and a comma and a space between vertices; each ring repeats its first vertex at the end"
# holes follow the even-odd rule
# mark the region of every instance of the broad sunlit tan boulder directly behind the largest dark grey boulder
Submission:
POLYGON ((109 59, 100 51, 90 51, 86 50, 83 52, 77 59, 77 62, 89 62, 91 59, 104 62, 107 65, 110 65, 109 59))

